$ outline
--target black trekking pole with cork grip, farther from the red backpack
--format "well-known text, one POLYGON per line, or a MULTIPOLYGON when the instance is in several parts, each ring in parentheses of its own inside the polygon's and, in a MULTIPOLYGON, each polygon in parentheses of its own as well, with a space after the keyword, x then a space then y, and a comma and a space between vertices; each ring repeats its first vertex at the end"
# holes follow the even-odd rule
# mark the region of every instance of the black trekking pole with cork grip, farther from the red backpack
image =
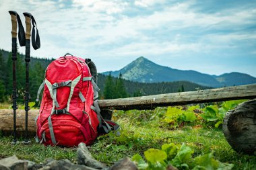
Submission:
POLYGON ((20 20, 20 15, 16 11, 9 11, 11 15, 11 60, 13 60, 12 71, 13 71, 13 93, 12 93, 12 100, 13 100, 13 141, 11 144, 16 144, 17 137, 16 137, 16 110, 18 109, 17 105, 17 87, 16 87, 16 60, 17 60, 17 26, 19 24, 19 42, 20 46, 24 46, 24 28, 22 26, 22 22, 20 20))

